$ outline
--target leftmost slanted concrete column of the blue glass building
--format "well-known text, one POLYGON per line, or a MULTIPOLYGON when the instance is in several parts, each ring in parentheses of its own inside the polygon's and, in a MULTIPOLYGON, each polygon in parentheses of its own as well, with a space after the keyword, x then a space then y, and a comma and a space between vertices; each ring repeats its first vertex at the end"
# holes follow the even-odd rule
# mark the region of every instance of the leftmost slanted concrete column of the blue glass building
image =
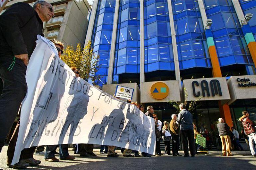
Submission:
POLYGON ((97 6, 98 6, 98 0, 94 0, 93 3, 92 3, 90 21, 89 21, 89 24, 88 24, 88 29, 87 29, 87 33, 86 33, 86 37, 85 37, 84 46, 86 46, 87 42, 89 40, 91 40, 91 35, 92 35, 92 30, 93 30, 93 24, 94 24, 94 21, 95 21, 97 6))

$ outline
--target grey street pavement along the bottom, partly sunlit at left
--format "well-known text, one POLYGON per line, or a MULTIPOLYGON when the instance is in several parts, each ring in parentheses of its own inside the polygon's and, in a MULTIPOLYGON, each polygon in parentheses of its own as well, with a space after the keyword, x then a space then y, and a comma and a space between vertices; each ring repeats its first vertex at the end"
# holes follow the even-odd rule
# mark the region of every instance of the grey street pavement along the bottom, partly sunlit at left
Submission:
MULTIPOLYGON (((126 158, 121 154, 118 158, 109 158, 106 154, 100 154, 99 149, 94 153, 96 157, 85 158, 73 154, 75 160, 60 162, 47 162, 44 156, 35 156, 41 160, 39 166, 28 167, 27 170, 253 170, 256 169, 256 157, 250 155, 234 155, 223 157, 221 155, 196 155, 195 157, 183 156, 154 156, 126 158)), ((116 152, 120 150, 116 150, 116 152)), ((6 167, 7 146, 4 146, 0 155, 1 169, 13 170, 6 167)))

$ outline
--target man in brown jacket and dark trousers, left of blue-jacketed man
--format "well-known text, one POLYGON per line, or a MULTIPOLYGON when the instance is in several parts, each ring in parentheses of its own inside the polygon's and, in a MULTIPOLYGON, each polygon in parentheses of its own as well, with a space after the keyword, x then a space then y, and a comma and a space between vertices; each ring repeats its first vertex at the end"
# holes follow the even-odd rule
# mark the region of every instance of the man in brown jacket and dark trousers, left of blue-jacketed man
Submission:
POLYGON ((180 148, 180 136, 179 136, 179 126, 176 123, 177 116, 176 114, 172 115, 172 120, 170 122, 170 132, 172 135, 172 152, 173 156, 181 156, 179 154, 179 148, 180 148))

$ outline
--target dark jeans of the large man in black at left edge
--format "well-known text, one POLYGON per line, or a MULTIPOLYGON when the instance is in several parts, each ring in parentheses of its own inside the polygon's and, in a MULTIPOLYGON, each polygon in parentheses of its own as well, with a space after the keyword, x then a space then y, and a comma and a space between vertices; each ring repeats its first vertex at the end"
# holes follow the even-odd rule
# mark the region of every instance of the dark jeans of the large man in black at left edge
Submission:
POLYGON ((0 152, 27 93, 27 66, 22 60, 15 58, 12 70, 8 71, 13 58, 11 55, 0 54, 0 76, 3 82, 0 96, 0 152))

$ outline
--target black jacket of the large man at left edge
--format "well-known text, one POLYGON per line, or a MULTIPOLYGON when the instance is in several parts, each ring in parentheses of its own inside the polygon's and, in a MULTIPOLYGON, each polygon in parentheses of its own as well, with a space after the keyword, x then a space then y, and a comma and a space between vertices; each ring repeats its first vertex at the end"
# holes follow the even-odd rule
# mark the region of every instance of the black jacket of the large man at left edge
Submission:
POLYGON ((43 22, 27 3, 15 3, 0 16, 0 53, 28 54, 36 47, 37 35, 42 35, 43 22))

